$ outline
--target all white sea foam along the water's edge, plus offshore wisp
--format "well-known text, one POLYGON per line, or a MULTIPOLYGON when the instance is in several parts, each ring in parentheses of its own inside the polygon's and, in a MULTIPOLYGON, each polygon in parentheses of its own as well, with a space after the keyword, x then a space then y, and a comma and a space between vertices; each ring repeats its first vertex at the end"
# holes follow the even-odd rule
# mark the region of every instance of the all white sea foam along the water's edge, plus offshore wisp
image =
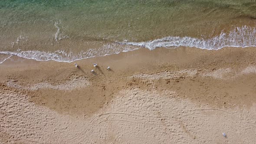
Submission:
MULTIPOLYGON (((59 32, 60 22, 55 23, 57 32, 55 34, 56 41, 65 38, 64 33, 59 32), (64 36, 64 37, 63 37, 64 36)), ((56 52, 43 52, 43 51, 17 51, 17 52, 0 52, 5 55, 15 55, 26 59, 35 59, 39 61, 55 60, 58 62, 73 62, 79 59, 92 58, 95 56, 107 56, 118 54, 120 52, 128 52, 145 47, 150 50, 158 47, 197 47, 200 49, 222 49, 223 47, 249 47, 256 46, 256 28, 242 26, 232 29, 229 33, 221 32, 220 35, 210 39, 197 39, 192 37, 178 37, 168 36, 162 39, 155 39, 149 42, 117 42, 105 44, 99 49, 87 49, 86 51, 67 52, 65 50, 58 50, 56 52)))

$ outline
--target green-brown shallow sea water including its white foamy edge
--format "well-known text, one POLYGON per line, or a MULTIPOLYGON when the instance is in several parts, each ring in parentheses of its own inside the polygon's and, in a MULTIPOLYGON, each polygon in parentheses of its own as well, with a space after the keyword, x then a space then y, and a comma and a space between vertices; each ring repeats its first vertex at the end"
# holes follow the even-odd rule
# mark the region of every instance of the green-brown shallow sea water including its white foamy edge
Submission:
POLYGON ((256 46, 255 0, 0 0, 0 63, 256 46))

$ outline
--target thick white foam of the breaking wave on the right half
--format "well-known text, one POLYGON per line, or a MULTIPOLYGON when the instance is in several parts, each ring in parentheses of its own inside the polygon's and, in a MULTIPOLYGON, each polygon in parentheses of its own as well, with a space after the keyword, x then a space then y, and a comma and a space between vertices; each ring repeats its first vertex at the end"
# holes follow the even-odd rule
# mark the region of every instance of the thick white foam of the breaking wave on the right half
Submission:
POLYGON ((167 36, 149 42, 120 42, 119 44, 141 46, 150 50, 158 47, 197 47, 200 49, 222 49, 223 47, 249 47, 256 46, 256 28, 242 26, 236 27, 229 33, 223 31, 219 36, 211 39, 197 39, 193 37, 167 36))

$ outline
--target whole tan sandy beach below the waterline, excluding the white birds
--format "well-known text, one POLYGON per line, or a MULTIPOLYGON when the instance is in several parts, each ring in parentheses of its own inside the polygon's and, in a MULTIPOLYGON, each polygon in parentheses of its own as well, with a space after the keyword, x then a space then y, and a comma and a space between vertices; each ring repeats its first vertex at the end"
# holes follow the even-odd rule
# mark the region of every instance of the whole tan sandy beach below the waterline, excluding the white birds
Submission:
POLYGON ((0 64, 1 144, 256 143, 255 48, 139 49, 77 63, 0 64))

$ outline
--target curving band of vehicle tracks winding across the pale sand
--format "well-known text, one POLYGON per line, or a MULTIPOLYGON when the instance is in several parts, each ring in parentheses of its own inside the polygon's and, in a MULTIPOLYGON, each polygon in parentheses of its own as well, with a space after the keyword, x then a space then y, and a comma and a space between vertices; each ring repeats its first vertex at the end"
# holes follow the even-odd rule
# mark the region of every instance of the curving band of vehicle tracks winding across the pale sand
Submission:
MULTIPOLYGON (((225 114, 226 116, 231 116, 235 119, 238 119, 237 121, 242 121, 242 119, 232 115, 231 113, 227 112, 227 111, 223 111, 223 110, 219 110, 219 109, 195 109, 194 111, 207 111, 207 115, 212 115, 213 112, 211 111, 218 111, 220 112, 219 114, 225 114)), ((112 121, 117 121, 117 122, 128 122, 128 123, 132 123, 132 124, 139 124, 139 125, 145 125, 145 126, 158 126, 158 125, 170 125, 170 124, 178 124, 181 123, 182 121, 187 121, 187 120, 183 120, 181 118, 185 118, 185 117, 190 117, 193 115, 204 115, 204 112, 195 112, 192 114, 188 114, 188 115, 184 115, 181 117, 178 117, 179 115, 172 115, 172 116, 163 116, 163 117, 148 117, 148 116, 143 116, 143 115, 133 115, 133 114, 127 114, 127 113, 105 113, 102 115, 98 115, 95 116, 94 118, 92 118, 92 120, 89 122, 89 124, 87 125, 87 127, 84 129, 84 131, 82 131, 82 133, 78 134, 77 136, 66 140, 66 141, 59 141, 58 143, 49 143, 49 144, 79 144, 83 141, 85 141, 86 136, 89 136, 89 134, 92 134, 92 132, 95 130, 94 127, 98 124, 102 124, 105 122, 112 122, 112 121), (176 118, 175 118, 176 117, 176 118), (162 123, 161 119, 165 118, 164 123, 162 123)), ((215 118, 222 118, 224 120, 227 120, 225 117, 219 117, 219 116, 201 116, 201 117, 197 117, 197 118, 208 118, 208 117, 215 117, 215 118)), ((232 119, 232 118, 231 118, 232 119)), ((248 123, 247 121, 242 121, 243 123, 248 123)), ((233 121, 234 124, 237 124, 236 122, 233 121)), ((254 125, 250 125, 251 127, 256 128, 256 126, 254 125)), ((239 124, 239 127, 244 127, 244 125, 239 124)), ((253 130, 249 130, 244 128, 245 130, 248 131, 253 131, 253 130)), ((256 131, 256 130, 255 130, 256 131)), ((34 143, 34 144, 43 144, 40 143, 38 141, 30 141, 30 140, 13 140, 13 142, 15 143, 16 141, 19 141, 18 143, 34 143)), ((14 144, 11 141, 8 141, 4 144, 14 144)), ((44 143, 46 144, 46 143, 44 143)))

